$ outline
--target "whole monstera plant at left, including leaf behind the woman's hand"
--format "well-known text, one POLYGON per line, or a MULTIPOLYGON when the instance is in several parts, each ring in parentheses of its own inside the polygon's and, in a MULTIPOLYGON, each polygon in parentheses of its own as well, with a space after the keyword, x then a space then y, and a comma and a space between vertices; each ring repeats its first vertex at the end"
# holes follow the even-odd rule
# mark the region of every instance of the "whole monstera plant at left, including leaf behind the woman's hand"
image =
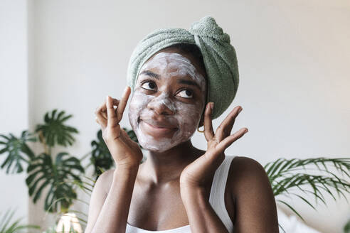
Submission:
MULTIPOLYGON (((49 187, 44 204, 44 210, 48 212, 64 213, 68 210, 73 200, 77 198, 76 188, 82 185, 80 177, 88 166, 94 166, 95 180, 97 180, 100 174, 114 165, 110 151, 102 139, 101 130, 97 131, 97 139, 91 142, 92 151, 86 153, 83 158, 78 159, 64 151, 56 156, 51 153, 56 145, 64 147, 73 145, 75 141, 73 134, 78 134, 78 130, 65 124, 70 117, 72 115, 65 115, 65 111, 58 112, 57 109, 53 109, 51 112, 46 112, 43 116, 43 124, 38 124, 34 133, 25 130, 20 137, 11 133, 9 136, 0 134, 2 139, 0 146, 4 146, 0 150, 0 155, 7 153, 1 168, 6 168, 6 173, 21 173, 24 170, 23 167, 27 165, 28 195, 33 196, 33 202, 36 203, 43 189, 49 187), (28 142, 36 141, 43 146, 43 152, 38 155, 28 146, 28 142), (88 156, 90 156, 90 163, 83 168, 81 164, 88 156), (69 180, 75 181, 69 183, 69 180)), ((134 131, 123 129, 132 140, 137 141, 134 131)))

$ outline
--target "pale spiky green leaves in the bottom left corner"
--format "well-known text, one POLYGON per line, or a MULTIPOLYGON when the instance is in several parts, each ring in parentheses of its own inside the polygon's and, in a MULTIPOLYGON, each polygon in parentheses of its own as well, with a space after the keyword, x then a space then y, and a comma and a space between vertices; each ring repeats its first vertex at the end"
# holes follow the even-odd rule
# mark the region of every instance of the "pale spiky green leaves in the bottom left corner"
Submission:
POLYGON ((15 210, 11 212, 11 209, 9 209, 6 211, 4 216, 1 216, 1 212, 0 212, 0 232, 1 233, 19 233, 19 232, 22 232, 22 229, 29 229, 29 228, 40 229, 40 227, 37 225, 20 224, 20 221, 23 217, 13 222, 11 219, 12 217, 14 217, 15 212, 16 212, 15 210))

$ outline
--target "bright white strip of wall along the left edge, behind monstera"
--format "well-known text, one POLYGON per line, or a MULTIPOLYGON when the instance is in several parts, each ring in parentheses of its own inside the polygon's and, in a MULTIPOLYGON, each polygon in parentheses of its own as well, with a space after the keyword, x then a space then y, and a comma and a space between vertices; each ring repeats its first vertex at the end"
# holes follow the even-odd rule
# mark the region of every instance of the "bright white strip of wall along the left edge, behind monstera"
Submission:
MULTIPOLYGON (((28 129, 28 53, 26 0, 0 1, 0 134, 20 136, 28 129)), ((3 140, 2 138, 0 139, 3 140)), ((1 145, 1 148, 2 145, 1 145)), ((7 154, 0 155, 0 166, 7 154)), ((13 165, 14 166, 14 163, 13 165)), ((12 171, 14 167, 11 167, 12 171)), ((26 173, 6 174, 0 170, 0 220, 15 210, 11 222, 28 219, 26 173), (14 198, 16 197, 16 199, 14 198)))

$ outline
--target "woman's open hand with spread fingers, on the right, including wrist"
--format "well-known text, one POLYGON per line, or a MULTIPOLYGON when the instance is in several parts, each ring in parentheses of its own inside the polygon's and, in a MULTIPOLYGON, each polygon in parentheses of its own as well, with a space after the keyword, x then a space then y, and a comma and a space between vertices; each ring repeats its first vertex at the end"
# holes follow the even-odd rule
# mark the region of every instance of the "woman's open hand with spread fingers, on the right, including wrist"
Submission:
POLYGON ((218 126, 216 133, 213 131, 213 124, 211 119, 211 113, 213 108, 209 102, 206 105, 206 111, 204 113, 204 136, 208 141, 208 149, 203 156, 197 158, 190 163, 180 175, 180 187, 181 189, 187 188, 204 188, 208 179, 213 176, 216 169, 221 165, 225 159, 223 153, 230 144, 243 136, 248 129, 242 128, 230 135, 235 118, 238 116, 242 107, 235 107, 226 119, 218 126))

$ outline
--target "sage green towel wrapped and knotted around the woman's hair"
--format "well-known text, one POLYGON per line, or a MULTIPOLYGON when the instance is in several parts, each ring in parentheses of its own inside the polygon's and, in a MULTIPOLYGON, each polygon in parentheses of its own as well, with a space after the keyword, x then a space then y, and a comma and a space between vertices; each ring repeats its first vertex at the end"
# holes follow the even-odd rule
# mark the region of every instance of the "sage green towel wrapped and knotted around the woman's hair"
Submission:
POLYGON ((239 74, 235 48, 230 36, 223 33, 215 19, 205 16, 184 28, 161 28, 149 33, 136 46, 129 60, 127 83, 133 92, 142 65, 154 53, 176 43, 196 44, 203 55, 208 75, 206 103, 214 102, 212 118, 216 119, 230 106, 238 89, 239 74))

